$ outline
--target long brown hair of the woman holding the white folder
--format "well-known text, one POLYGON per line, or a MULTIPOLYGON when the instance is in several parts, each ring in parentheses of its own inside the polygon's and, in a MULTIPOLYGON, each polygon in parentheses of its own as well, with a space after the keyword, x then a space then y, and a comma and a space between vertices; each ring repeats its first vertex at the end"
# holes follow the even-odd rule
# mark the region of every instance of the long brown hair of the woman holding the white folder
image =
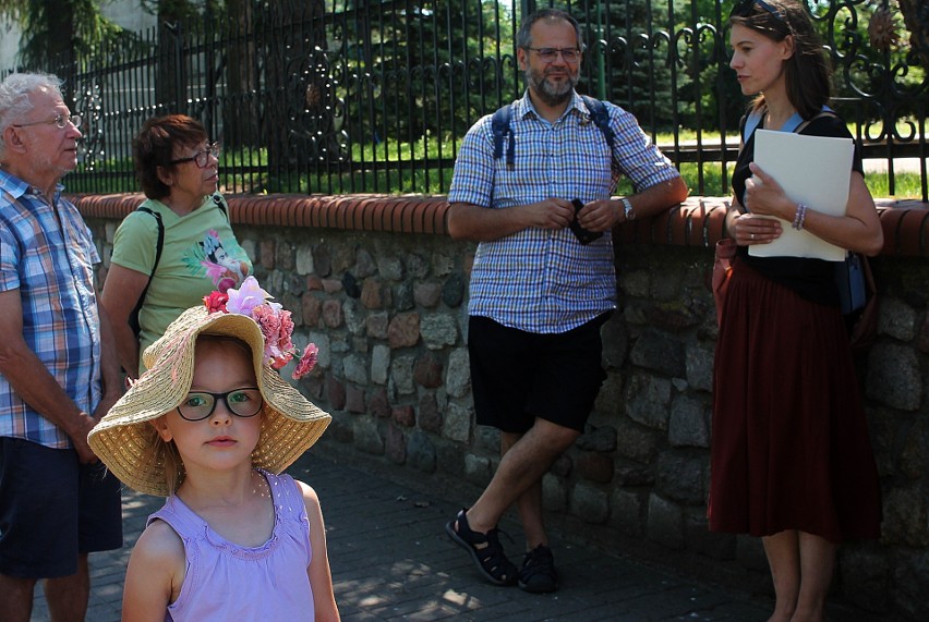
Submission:
MULTIPOLYGON (((738 24, 774 41, 794 39, 794 53, 786 61, 784 82, 787 98, 800 117, 812 119, 831 96, 831 74, 822 41, 803 4, 795 0, 741 0, 729 13, 729 25, 738 24)), ((764 106, 764 96, 751 109, 764 106)))

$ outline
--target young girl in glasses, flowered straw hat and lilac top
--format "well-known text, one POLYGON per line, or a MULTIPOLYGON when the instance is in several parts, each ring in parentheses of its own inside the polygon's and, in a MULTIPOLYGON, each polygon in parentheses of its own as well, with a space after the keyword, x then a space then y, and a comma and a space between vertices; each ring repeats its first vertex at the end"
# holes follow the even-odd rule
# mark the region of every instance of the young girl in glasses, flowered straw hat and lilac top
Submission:
POLYGON ((277 475, 330 417, 272 368, 292 324, 260 288, 243 305, 248 286, 172 322, 89 435, 125 484, 168 496, 132 551, 125 621, 339 620, 319 500, 277 475))

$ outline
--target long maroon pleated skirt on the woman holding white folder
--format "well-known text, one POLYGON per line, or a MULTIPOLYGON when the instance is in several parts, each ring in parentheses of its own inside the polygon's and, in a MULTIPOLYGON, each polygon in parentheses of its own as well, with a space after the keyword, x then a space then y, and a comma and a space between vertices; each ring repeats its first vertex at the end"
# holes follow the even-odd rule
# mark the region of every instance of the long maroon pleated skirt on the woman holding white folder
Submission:
POLYGON ((716 342, 710 529, 878 538, 878 473, 840 310, 736 260, 716 342))

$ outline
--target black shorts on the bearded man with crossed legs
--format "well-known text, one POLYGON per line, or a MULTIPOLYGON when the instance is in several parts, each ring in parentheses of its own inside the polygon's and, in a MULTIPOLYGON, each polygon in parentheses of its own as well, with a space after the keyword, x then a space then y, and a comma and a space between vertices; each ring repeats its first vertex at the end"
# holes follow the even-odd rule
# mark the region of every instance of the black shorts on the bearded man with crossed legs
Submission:
POLYGON ((523 434, 539 417, 583 432, 606 379, 600 327, 608 317, 548 334, 472 316, 468 351, 478 424, 523 434))

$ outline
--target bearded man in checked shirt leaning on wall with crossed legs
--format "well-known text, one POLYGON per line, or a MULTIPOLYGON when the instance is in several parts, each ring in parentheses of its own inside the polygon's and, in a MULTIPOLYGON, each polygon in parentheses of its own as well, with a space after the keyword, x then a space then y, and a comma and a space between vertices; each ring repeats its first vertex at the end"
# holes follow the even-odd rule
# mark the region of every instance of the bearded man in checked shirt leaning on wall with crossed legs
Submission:
POLYGON ((478 423, 500 430, 503 458, 480 498, 446 525, 496 585, 557 588, 542 521, 542 477, 584 430, 605 378, 600 328, 616 306, 611 229, 687 196, 635 118, 575 90, 578 22, 543 10, 517 35, 522 99, 468 132, 455 163, 448 230, 479 242, 468 349, 478 423), (614 198, 620 174, 637 188, 614 198), (516 504, 521 568, 497 522, 516 504))

